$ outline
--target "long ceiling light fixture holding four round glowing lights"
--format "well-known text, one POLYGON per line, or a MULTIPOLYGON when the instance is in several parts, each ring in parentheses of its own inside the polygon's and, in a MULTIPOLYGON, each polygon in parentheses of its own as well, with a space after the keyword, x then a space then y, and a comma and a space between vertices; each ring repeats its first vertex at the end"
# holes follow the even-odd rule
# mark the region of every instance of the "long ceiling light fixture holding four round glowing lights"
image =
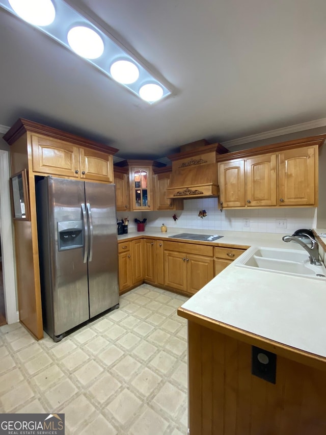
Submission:
POLYGON ((64 0, 0 0, 0 7, 33 24, 144 101, 152 104, 171 95, 162 79, 157 80, 106 29, 64 0))

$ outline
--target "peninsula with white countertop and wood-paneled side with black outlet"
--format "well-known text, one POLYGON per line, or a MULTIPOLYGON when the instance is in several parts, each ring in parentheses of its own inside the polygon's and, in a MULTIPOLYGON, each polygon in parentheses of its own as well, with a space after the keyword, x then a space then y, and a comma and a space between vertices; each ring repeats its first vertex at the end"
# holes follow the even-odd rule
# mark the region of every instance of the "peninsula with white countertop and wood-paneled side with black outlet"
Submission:
POLYGON ((191 435, 326 433, 325 290, 324 280, 233 263, 178 309, 191 435), (259 354, 266 372, 276 358, 275 383, 252 374, 259 354))

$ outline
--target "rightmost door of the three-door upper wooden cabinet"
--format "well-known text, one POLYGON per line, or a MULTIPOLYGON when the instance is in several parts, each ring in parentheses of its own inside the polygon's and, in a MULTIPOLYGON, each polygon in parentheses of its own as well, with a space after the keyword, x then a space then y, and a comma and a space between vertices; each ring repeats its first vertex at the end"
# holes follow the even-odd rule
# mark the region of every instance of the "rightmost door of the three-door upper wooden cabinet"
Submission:
POLYGON ((318 146, 279 153, 280 206, 317 205, 318 146))

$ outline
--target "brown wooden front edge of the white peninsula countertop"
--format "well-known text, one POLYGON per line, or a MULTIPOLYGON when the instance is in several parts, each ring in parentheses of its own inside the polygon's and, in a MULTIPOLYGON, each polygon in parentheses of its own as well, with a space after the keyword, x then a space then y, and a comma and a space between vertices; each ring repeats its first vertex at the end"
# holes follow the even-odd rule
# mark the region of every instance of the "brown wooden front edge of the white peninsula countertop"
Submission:
POLYGON ((220 332, 228 337, 250 344, 252 346, 262 347, 265 350, 276 353, 284 358, 295 361, 306 366, 314 367, 318 370, 326 371, 326 358, 314 353, 305 352, 295 347, 287 346, 277 341, 269 340, 265 337, 255 335, 243 329, 236 328, 223 322, 213 320, 209 317, 186 310, 181 306, 177 310, 178 316, 189 321, 195 322, 201 326, 220 332))

